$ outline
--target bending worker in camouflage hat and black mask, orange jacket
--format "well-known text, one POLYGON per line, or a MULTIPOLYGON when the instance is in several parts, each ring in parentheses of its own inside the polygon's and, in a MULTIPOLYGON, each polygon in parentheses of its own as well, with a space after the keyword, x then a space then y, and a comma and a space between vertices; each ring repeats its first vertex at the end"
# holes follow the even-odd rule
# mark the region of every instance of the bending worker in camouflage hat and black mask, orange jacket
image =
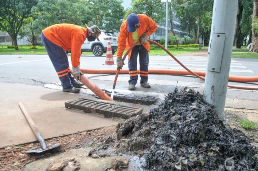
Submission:
POLYGON ((101 31, 98 26, 87 28, 73 24, 55 24, 42 30, 41 40, 49 55, 49 58, 61 81, 63 91, 78 93, 82 83, 76 82, 81 79, 80 55, 81 46, 88 39, 89 42, 99 40, 101 31), (72 71, 70 73, 69 62, 65 50, 71 50, 72 71), (75 80, 75 79, 76 80, 75 80))

